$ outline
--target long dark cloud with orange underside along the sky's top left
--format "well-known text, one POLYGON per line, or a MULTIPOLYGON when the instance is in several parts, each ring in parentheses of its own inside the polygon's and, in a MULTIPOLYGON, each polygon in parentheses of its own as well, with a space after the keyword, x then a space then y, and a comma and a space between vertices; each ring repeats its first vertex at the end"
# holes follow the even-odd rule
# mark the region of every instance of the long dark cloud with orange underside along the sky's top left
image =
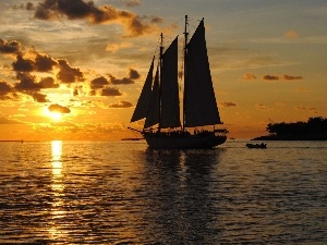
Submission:
MULTIPOLYGON (((137 4, 138 1, 128 1, 129 4, 137 4)), ((112 5, 96 7, 93 1, 83 0, 44 0, 35 11, 34 16, 39 20, 60 20, 66 16, 69 20, 88 20, 92 24, 116 22, 122 24, 129 32, 129 36, 142 36, 149 34, 157 27, 159 17, 138 16, 137 14, 117 10, 112 5), (149 23, 145 20, 150 19, 149 23)))

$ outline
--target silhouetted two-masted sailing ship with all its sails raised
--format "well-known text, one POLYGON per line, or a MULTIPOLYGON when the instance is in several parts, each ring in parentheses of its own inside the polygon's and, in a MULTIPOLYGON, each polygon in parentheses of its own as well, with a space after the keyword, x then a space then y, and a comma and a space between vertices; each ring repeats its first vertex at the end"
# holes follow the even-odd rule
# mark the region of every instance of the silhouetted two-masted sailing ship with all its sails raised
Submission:
POLYGON ((145 119, 142 131, 129 128, 140 132, 150 148, 213 148, 227 139, 228 131, 216 128, 222 122, 213 87, 204 20, 199 22, 190 41, 187 25, 185 15, 182 108, 179 98, 178 37, 164 52, 161 34, 155 77, 154 58, 131 119, 131 123, 145 119))

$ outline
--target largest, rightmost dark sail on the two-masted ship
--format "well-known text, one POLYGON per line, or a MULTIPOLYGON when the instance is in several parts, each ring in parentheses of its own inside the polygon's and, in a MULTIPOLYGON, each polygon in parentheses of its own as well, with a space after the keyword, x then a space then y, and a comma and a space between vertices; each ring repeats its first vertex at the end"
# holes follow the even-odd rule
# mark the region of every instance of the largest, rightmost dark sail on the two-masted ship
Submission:
POLYGON ((184 125, 219 124, 221 122, 213 87, 203 20, 186 48, 184 125))

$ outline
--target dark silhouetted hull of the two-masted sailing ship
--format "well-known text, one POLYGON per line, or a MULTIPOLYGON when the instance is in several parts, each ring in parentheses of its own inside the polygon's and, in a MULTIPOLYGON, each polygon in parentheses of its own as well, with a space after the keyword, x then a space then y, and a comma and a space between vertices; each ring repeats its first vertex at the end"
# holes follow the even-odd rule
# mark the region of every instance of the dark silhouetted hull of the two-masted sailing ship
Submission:
POLYGON ((226 142, 226 135, 158 135, 144 133, 147 145, 154 149, 209 149, 226 142))

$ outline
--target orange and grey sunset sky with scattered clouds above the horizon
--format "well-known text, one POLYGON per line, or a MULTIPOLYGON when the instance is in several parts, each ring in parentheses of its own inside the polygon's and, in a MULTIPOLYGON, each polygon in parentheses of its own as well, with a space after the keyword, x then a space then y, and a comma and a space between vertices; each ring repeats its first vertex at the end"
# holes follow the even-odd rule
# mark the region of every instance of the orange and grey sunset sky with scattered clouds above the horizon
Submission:
POLYGON ((0 140, 140 137, 126 127, 160 33, 165 47, 180 35, 182 53, 185 14, 191 35, 204 17, 229 137, 327 117, 326 0, 5 0, 0 9, 0 140))

